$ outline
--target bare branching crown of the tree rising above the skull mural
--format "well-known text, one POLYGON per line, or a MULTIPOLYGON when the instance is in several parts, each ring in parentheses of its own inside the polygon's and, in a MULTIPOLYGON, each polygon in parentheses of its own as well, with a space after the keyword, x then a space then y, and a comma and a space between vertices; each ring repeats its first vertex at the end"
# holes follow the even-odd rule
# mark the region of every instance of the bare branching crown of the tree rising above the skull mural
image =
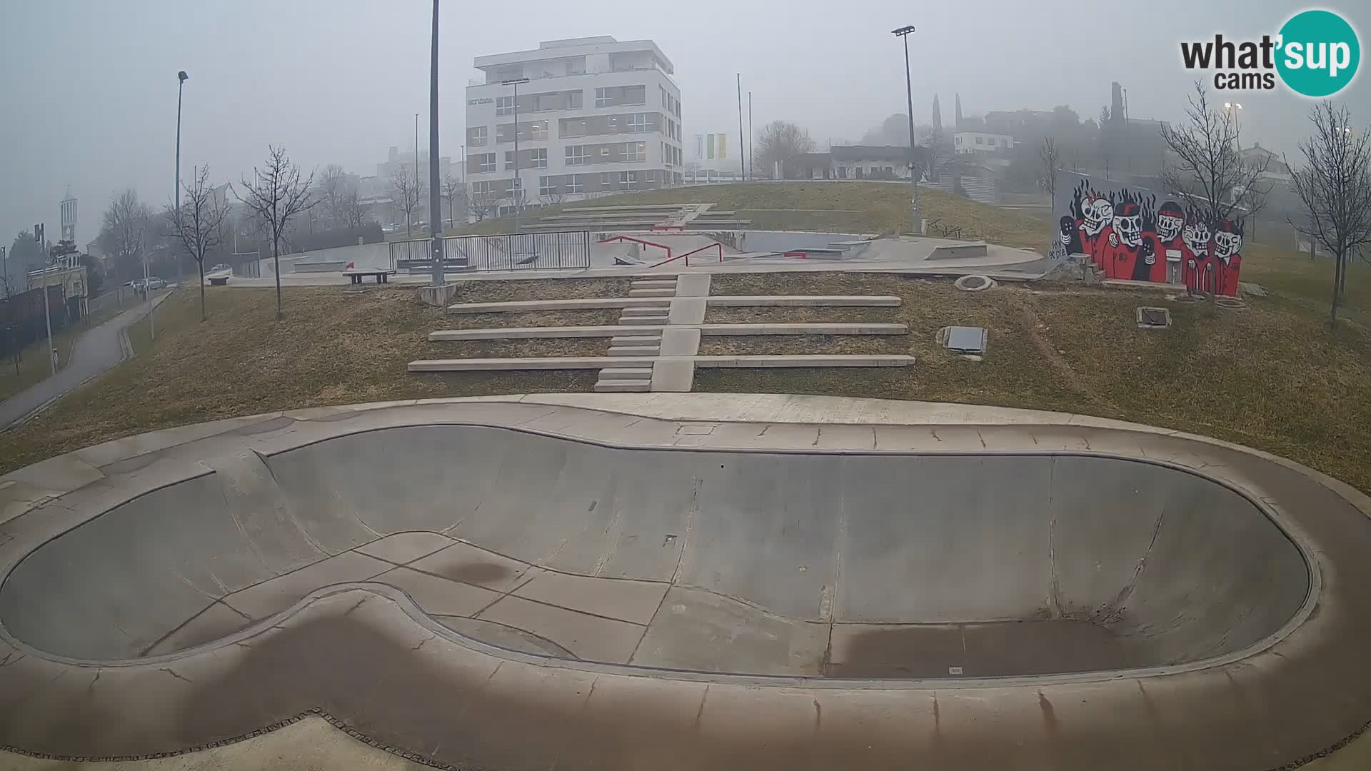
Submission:
POLYGON ((1209 104, 1202 81, 1196 81, 1186 119, 1163 123, 1161 139, 1175 155, 1161 173, 1163 184, 1196 207, 1211 228, 1261 210, 1271 192, 1268 161, 1242 161, 1238 121, 1233 112, 1209 104))

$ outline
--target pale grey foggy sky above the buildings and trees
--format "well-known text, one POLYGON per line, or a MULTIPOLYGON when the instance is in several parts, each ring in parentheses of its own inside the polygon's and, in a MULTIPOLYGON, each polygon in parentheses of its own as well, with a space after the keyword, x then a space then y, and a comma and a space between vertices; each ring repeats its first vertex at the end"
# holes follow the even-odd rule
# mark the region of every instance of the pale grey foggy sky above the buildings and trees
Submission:
MULTIPOLYGON (((1322 7, 1371 43, 1361 3, 1322 7)), ((0 0, 0 243, 80 199, 77 243, 93 239, 112 193, 133 187, 160 209, 174 180, 177 70, 186 70, 182 178, 208 163, 237 181, 284 144, 306 169, 341 163, 374 174, 387 148, 428 144, 428 0, 0 0)), ((823 145, 860 140, 905 111, 903 52, 890 34, 913 23, 914 118, 934 93, 945 122, 964 112, 1050 110, 1082 118, 1128 89, 1130 117, 1176 119, 1193 81, 1180 40, 1275 33, 1302 4, 1272 0, 1086 3, 971 0, 910 3, 611 3, 444 0, 440 26, 440 152, 459 156, 472 58, 536 48, 540 40, 607 34, 651 38, 676 66, 687 154, 695 133, 738 132, 733 73, 753 123, 791 119, 823 145)), ((1363 63, 1361 70, 1371 64, 1363 63)), ((1338 95, 1371 126, 1371 78, 1338 95)), ((1312 102, 1286 93, 1241 97, 1243 144, 1296 154, 1312 102)), ((1222 102, 1222 99, 1220 99, 1222 102)))

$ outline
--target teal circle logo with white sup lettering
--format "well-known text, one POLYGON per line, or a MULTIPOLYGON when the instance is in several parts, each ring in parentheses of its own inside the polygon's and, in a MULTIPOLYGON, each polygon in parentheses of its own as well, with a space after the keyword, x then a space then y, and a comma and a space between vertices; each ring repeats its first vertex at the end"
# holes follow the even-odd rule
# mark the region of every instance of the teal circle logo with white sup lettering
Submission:
POLYGON ((1276 71, 1296 93, 1333 96, 1352 82, 1360 62, 1356 30, 1333 11, 1302 11, 1281 27, 1276 71))

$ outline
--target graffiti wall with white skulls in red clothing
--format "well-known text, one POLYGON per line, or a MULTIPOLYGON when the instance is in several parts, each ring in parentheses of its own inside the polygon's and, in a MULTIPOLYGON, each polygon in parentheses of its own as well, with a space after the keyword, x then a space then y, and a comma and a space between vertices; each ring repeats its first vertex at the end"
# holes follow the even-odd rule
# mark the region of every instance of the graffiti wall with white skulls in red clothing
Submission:
POLYGON ((1242 220, 1209 222, 1146 188, 1057 171, 1053 257, 1087 255, 1105 278, 1238 294, 1242 220))

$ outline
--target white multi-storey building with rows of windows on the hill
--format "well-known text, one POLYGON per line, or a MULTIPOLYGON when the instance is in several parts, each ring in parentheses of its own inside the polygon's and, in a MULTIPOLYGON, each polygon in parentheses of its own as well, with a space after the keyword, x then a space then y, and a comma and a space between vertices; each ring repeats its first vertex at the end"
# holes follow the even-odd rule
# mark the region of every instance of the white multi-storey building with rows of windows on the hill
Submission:
POLYGON ((515 130, 525 204, 681 184, 680 89, 651 40, 550 40, 474 66, 485 82, 466 89, 473 204, 513 206, 515 130), (520 78, 515 104, 505 81, 520 78))

